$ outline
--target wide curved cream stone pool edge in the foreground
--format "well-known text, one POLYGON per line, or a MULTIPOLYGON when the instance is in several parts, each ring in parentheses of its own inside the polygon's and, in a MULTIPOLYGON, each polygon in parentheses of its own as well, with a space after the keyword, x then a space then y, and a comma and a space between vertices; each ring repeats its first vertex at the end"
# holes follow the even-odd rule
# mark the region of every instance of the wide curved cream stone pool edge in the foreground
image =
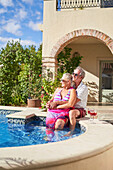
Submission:
POLYGON ((101 154, 113 147, 113 126, 104 121, 95 122, 92 124, 87 117, 81 119, 79 123, 86 127, 86 132, 76 138, 42 145, 0 148, 0 167, 40 169, 101 154))

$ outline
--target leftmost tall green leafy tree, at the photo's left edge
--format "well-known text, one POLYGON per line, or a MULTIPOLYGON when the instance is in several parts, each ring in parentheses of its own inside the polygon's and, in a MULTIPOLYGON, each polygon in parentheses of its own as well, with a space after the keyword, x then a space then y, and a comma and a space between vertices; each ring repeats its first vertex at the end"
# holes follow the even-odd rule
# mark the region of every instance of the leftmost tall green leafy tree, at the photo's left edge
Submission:
POLYGON ((23 53, 20 42, 8 42, 0 52, 1 68, 1 104, 11 104, 14 88, 18 85, 18 74, 21 71, 21 60, 18 55, 23 53))

